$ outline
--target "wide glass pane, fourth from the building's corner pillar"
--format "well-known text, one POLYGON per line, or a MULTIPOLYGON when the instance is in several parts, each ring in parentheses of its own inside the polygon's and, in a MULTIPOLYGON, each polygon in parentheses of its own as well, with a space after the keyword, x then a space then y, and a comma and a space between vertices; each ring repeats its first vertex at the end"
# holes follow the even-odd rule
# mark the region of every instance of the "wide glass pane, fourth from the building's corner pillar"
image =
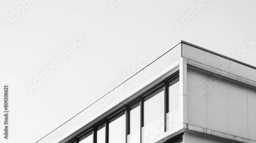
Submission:
POLYGON ((125 143, 125 114, 109 124, 109 143, 125 143))

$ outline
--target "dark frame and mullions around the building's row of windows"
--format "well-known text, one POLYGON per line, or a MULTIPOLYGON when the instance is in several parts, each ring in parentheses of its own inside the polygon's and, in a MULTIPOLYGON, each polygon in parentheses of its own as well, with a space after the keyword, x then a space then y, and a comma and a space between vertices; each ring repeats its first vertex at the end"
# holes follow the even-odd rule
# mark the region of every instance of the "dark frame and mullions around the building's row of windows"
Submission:
MULTIPOLYGON (((83 136, 88 137, 91 134, 93 134, 93 143, 97 143, 97 131, 99 130, 98 128, 100 128, 101 126, 102 126, 101 128, 105 127, 105 143, 108 143, 109 142, 109 124, 124 114, 125 114, 125 142, 127 143, 127 135, 130 134, 130 111, 137 106, 140 106, 140 142, 142 142, 142 127, 144 127, 144 102, 150 99, 151 97, 154 97, 158 93, 157 91, 161 89, 163 89, 164 91, 164 132, 166 132, 166 127, 167 127, 166 114, 169 112, 168 87, 169 87, 169 83, 171 82, 176 83, 178 81, 179 81, 179 70, 176 71, 174 74, 170 75, 169 77, 167 77, 166 79, 164 79, 162 82, 155 85, 154 87, 142 93, 138 98, 120 107, 119 109, 117 109, 110 115, 106 116, 104 119, 102 119, 92 127, 78 134, 77 136, 69 140, 68 143, 73 143, 73 141, 75 141, 76 143, 79 143, 79 139, 81 137, 83 136)), ((183 133, 181 134, 181 138, 182 138, 182 135, 183 133)), ((180 137, 180 135, 178 136, 180 137)), ((167 140, 166 143, 167 142, 170 143, 170 141, 173 142, 173 138, 172 140, 167 140)))

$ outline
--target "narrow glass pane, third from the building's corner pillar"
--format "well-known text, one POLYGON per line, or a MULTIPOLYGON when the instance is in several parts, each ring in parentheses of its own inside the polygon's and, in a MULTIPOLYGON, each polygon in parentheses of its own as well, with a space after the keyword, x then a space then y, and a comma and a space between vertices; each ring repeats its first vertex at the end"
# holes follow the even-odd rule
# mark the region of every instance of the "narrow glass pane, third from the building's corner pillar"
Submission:
POLYGON ((127 136, 127 142, 140 142, 140 106, 130 111, 130 134, 127 136))

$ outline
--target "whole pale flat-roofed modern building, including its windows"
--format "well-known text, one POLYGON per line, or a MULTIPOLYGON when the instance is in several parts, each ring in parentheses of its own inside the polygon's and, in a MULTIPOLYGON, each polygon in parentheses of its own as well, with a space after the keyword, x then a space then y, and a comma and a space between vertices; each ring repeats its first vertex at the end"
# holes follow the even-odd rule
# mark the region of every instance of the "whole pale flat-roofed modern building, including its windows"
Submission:
POLYGON ((37 142, 256 142, 255 74, 181 41, 37 142))

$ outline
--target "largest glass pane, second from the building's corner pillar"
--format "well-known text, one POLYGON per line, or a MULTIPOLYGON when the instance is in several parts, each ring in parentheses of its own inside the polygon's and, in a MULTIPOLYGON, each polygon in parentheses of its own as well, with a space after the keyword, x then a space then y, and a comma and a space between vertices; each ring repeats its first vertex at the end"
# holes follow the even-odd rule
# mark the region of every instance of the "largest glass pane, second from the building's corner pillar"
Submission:
POLYGON ((160 137, 164 132, 164 91, 144 102, 143 142, 160 137))

